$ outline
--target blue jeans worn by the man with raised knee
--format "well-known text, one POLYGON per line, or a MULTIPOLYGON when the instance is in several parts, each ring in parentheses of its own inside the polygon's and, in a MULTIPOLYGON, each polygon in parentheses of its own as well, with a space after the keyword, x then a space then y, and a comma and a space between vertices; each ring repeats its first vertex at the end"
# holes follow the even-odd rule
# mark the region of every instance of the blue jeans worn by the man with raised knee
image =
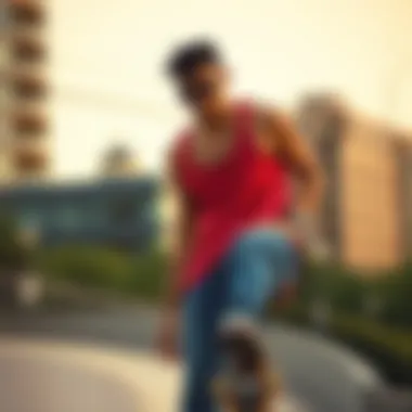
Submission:
POLYGON ((268 298, 296 275, 296 265, 295 250, 282 233, 253 230, 189 293, 183 310, 184 412, 216 411, 210 381, 218 368, 220 322, 232 314, 258 320, 268 298))

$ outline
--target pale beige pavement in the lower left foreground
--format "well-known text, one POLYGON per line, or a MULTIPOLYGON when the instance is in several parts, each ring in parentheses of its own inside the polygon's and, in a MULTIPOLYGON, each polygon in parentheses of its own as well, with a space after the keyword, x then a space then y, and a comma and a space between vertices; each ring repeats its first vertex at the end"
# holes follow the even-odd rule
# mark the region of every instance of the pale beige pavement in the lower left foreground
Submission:
MULTIPOLYGON (((4 411, 178 411, 180 368, 149 351, 10 337, 0 339, 0 365, 4 411)), ((293 399, 280 411, 306 412, 293 399)))

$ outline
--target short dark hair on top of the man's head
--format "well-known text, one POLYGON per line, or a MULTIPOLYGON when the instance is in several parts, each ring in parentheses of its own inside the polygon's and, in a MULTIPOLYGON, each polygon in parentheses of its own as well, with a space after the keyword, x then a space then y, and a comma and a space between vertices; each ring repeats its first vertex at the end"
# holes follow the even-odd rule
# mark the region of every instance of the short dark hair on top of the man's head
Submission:
POLYGON ((167 73, 172 77, 190 75, 202 64, 220 64, 221 55, 215 43, 203 40, 179 47, 167 62, 167 73))

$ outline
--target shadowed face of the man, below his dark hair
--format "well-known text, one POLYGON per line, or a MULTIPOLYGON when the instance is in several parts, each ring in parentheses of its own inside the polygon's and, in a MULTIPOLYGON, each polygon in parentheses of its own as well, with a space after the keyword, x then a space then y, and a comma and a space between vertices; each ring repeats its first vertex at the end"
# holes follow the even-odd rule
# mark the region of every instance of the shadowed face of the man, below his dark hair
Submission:
POLYGON ((178 88, 185 104, 207 114, 218 110, 226 95, 227 82, 224 67, 204 64, 189 76, 179 79, 178 88))

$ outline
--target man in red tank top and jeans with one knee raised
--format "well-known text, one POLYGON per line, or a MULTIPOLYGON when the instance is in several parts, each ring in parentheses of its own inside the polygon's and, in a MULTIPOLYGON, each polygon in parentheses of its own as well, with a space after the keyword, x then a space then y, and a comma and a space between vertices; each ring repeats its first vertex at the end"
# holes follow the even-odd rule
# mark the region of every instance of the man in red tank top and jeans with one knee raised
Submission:
POLYGON ((217 372, 240 372, 247 357, 263 356, 257 320, 296 274, 297 245, 313 235, 323 180, 283 115, 233 100, 213 43, 183 46, 168 72, 193 123, 169 156, 180 216, 159 345, 176 355, 182 326, 183 411, 211 412, 217 372))

